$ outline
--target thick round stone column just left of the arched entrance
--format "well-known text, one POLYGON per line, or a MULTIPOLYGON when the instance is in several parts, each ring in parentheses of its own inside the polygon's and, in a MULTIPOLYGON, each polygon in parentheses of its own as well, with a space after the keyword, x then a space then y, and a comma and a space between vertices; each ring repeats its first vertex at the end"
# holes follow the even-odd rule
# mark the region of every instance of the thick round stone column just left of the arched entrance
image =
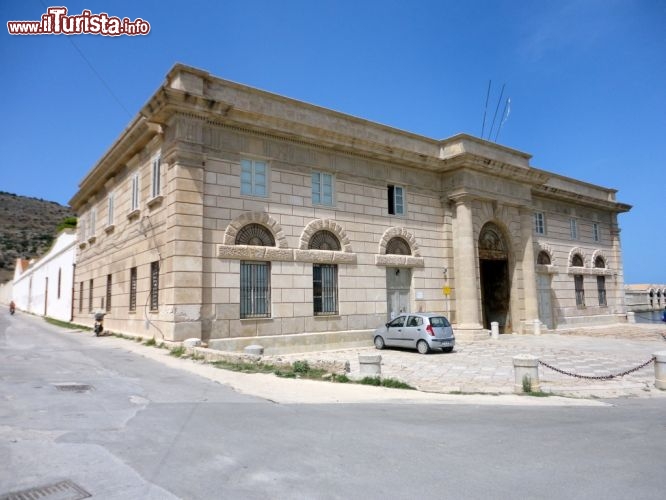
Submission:
POLYGON ((456 279, 456 311, 460 330, 480 330, 479 280, 476 276, 477 253, 472 223, 472 201, 459 198, 456 203, 453 232, 453 265, 456 279))

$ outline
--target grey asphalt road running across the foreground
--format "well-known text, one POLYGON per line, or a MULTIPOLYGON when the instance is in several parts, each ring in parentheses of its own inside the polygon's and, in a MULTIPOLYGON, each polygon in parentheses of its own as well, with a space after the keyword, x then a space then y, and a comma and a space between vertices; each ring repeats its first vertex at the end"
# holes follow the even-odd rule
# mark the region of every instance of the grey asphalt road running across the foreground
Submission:
POLYGON ((666 497, 666 398, 276 404, 100 340, 0 314, 1 500, 666 497))

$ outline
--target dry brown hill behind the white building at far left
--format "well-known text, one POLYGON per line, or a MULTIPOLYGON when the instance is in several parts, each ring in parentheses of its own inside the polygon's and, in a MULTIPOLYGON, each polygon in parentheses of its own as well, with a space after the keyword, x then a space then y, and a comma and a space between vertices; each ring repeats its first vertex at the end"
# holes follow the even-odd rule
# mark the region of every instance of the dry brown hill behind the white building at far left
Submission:
POLYGON ((54 201, 0 191, 0 283, 14 277, 18 257, 44 255, 57 236, 57 226, 74 216, 69 207, 54 201))

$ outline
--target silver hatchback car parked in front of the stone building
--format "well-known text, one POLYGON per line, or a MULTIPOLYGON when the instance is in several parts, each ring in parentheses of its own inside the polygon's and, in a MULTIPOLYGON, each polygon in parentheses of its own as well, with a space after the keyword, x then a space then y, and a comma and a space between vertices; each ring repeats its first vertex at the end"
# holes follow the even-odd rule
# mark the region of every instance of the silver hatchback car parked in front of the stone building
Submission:
POLYGON ((456 338, 451 323, 438 313, 403 313, 375 330, 375 347, 416 348, 421 354, 431 349, 453 351, 456 338))

